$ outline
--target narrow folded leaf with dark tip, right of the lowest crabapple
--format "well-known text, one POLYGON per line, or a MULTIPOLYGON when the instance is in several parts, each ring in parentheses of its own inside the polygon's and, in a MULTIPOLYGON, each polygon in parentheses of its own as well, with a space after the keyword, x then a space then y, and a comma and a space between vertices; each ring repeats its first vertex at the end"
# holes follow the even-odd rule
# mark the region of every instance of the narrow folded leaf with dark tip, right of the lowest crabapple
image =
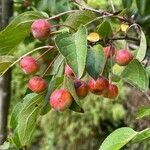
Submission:
POLYGON ((70 107, 71 110, 76 111, 76 112, 81 112, 83 113, 84 110, 81 108, 81 104, 79 101, 79 97, 76 94, 75 88, 74 88, 74 84, 73 81, 70 77, 66 77, 66 87, 68 89, 68 91, 71 93, 72 97, 74 98, 74 101, 70 107))

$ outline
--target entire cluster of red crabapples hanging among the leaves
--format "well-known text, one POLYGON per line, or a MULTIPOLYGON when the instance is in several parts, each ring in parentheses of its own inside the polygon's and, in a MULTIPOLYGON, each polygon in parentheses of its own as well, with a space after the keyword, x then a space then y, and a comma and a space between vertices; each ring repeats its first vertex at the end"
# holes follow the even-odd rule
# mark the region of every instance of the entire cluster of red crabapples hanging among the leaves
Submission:
MULTIPOLYGON (((31 32, 34 38, 43 40, 48 38, 51 25, 45 19, 38 19, 33 22, 31 32)), ((132 59, 133 55, 129 50, 121 49, 115 50, 113 45, 103 48, 105 60, 113 59, 120 66, 126 66, 132 59)), ((25 56, 20 60, 20 66, 24 73, 32 75, 28 82, 28 88, 35 93, 43 92, 47 89, 46 81, 36 74, 39 69, 38 61, 32 56, 25 56)), ((96 80, 89 77, 87 83, 81 79, 75 78, 75 74, 69 65, 65 65, 64 73, 66 76, 71 77, 77 96, 83 99, 87 96, 88 92, 95 95, 101 95, 109 99, 115 99, 118 96, 118 87, 101 74, 96 80)), ((71 106, 73 97, 66 89, 56 89, 52 92, 49 103, 50 106, 56 110, 63 111, 71 106)))

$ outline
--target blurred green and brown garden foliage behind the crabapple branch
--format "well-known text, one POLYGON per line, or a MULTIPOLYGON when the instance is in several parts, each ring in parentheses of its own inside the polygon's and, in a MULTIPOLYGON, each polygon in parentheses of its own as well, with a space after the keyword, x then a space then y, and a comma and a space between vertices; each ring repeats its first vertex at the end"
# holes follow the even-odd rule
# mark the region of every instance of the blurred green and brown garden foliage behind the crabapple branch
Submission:
MULTIPOLYGON (((96 9, 111 11, 110 0, 87 0, 87 4, 96 9)), ((149 31, 147 20, 141 21, 143 16, 138 14, 135 0, 113 0, 117 11, 127 9, 128 17, 137 16, 137 21, 145 31, 149 31), (141 18, 140 18, 141 17, 141 18), (140 22, 141 21, 141 22, 140 22)), ((2 6, 1 6, 2 7, 2 6)), ((76 5, 69 0, 14 0, 13 16, 25 11, 41 11, 45 15, 75 9, 76 5)), ((149 8, 150 9, 150 8, 149 8)), ((150 13, 149 13, 150 15, 150 13)), ((67 16, 54 20, 53 24, 63 22, 67 16)), ((18 56, 36 47, 38 41, 27 37, 18 49, 18 56)), ((27 90, 28 77, 22 73, 19 65, 11 72, 11 112, 14 105, 20 101, 27 90)), ((115 129, 129 126, 140 131, 150 125, 150 119, 136 120, 136 113, 140 106, 150 105, 147 97, 128 84, 119 82, 120 95, 116 101, 97 97, 92 94, 82 100, 84 114, 72 111, 57 112, 51 110, 41 117, 36 128, 31 150, 98 150, 101 142, 115 129)), ((8 115, 9 118, 10 115, 8 115)), ((15 148, 10 148, 15 150, 15 148)), ((140 144, 128 144, 123 150, 149 150, 150 141, 140 144)))

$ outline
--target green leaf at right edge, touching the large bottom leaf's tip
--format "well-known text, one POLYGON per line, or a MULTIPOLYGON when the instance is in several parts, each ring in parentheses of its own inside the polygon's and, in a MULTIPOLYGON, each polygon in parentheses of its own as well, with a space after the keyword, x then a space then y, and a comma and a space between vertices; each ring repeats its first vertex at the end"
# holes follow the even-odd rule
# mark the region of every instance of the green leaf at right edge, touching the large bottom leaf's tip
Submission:
POLYGON ((138 132, 135 138, 132 140, 132 143, 139 143, 145 140, 150 140, 150 128, 138 132))

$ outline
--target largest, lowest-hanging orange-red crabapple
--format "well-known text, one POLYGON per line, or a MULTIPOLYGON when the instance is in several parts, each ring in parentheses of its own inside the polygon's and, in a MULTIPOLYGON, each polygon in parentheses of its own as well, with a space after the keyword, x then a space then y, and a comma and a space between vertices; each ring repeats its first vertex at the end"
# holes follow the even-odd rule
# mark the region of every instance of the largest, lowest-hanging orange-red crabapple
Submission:
POLYGON ((73 98, 67 90, 55 90, 50 96, 50 105, 52 108, 62 111, 70 107, 73 98))

